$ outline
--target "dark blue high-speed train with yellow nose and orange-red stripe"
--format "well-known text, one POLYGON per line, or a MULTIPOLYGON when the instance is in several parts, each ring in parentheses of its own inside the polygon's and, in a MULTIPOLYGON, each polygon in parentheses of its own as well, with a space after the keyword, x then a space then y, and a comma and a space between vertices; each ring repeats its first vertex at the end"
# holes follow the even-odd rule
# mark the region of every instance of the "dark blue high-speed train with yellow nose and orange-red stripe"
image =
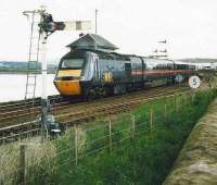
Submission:
POLYGON ((194 65, 94 49, 76 49, 60 61, 54 85, 62 96, 97 98, 188 79, 194 65))

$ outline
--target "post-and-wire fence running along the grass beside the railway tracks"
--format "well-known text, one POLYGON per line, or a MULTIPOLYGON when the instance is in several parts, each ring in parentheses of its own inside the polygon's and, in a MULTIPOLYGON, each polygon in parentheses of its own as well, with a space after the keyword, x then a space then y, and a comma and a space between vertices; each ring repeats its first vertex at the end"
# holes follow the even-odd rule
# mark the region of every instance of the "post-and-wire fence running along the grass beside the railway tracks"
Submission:
POLYGON ((92 124, 92 127, 74 125, 65 135, 43 144, 26 141, 1 146, 0 185, 30 184, 44 177, 41 173, 53 177, 65 165, 77 166, 87 157, 102 151, 112 153, 118 146, 130 145, 129 140, 154 133, 156 126, 181 113, 194 100, 195 94, 175 95, 144 104, 139 112, 130 111, 120 118, 108 115, 106 121, 99 121, 101 124, 92 124))

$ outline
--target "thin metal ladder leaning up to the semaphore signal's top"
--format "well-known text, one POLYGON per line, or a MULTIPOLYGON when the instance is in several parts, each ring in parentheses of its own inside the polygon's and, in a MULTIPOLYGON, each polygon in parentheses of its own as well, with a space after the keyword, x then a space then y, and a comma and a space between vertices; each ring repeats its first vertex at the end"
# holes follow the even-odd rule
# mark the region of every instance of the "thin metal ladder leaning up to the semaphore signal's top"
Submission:
POLYGON ((40 32, 38 24, 40 23, 41 14, 39 11, 26 11, 24 12, 24 15, 30 18, 30 42, 28 51, 25 100, 29 99, 29 101, 31 102, 31 108, 34 108, 37 74, 38 72, 40 72, 40 65, 38 63, 40 32))

